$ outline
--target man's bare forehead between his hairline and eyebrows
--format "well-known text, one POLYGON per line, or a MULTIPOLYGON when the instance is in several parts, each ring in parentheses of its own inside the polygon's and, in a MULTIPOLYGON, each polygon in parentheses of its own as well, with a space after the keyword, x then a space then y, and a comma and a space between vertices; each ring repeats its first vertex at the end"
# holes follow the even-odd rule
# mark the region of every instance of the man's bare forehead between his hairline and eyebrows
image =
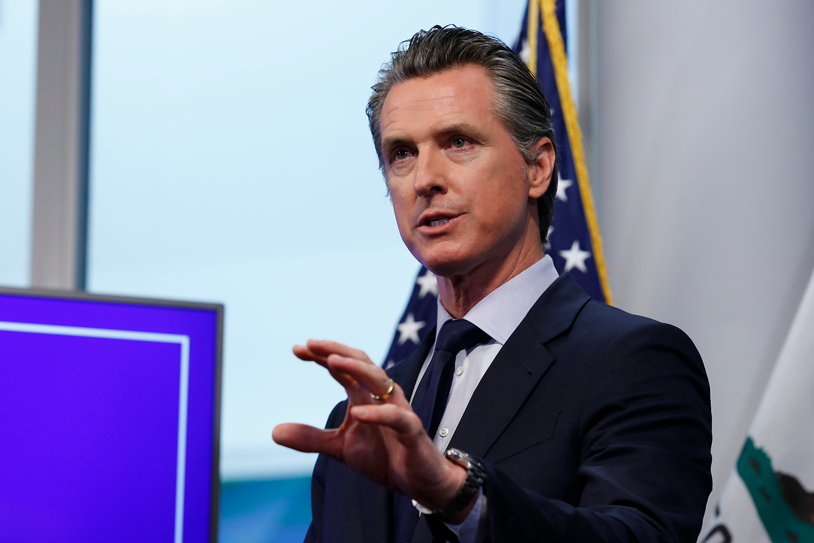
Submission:
POLYGON ((382 108, 382 135, 475 124, 492 116, 494 86, 485 68, 452 68, 393 85, 382 108))

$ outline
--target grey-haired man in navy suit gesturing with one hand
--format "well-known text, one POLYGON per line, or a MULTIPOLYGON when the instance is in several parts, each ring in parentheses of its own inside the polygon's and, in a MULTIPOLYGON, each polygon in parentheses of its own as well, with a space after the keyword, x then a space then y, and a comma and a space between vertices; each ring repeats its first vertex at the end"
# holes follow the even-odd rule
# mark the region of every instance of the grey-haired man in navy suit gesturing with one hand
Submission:
POLYGON ((319 452, 306 541, 695 541, 711 491, 702 361, 673 326, 590 300, 543 251, 550 112, 504 44, 417 33, 379 73, 370 129, 438 326, 385 372, 309 340, 348 392, 319 452), (445 453, 445 454, 444 454, 445 453))

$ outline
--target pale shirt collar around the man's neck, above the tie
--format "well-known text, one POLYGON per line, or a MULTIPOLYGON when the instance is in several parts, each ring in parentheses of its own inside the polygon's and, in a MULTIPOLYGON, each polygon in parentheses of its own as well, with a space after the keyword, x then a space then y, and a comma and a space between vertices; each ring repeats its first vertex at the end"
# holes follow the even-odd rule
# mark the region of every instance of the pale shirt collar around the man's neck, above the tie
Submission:
MULTIPOLYGON (((469 310, 469 313, 464 315, 464 318, 492 336, 497 343, 505 344, 532 309, 532 305, 558 277, 554 261, 551 256, 546 255, 494 291, 489 292, 483 300, 469 310)), ((444 322, 452 318, 444 309, 439 297, 436 330, 440 331, 444 322)))

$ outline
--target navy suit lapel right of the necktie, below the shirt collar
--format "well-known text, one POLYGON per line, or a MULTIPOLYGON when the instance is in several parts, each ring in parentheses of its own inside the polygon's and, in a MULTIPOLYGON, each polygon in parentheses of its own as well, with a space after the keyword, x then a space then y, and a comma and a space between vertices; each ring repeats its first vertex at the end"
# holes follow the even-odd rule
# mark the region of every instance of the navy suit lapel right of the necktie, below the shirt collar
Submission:
POLYGON ((475 388, 451 447, 484 458, 554 362, 545 343, 567 331, 588 300, 569 274, 551 284, 475 388))

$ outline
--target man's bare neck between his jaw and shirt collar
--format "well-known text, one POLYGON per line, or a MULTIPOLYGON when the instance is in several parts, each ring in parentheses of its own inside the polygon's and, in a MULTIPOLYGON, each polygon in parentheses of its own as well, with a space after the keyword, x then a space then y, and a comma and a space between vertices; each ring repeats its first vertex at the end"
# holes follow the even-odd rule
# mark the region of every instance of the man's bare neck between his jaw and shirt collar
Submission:
POLYGON ((514 278, 545 256, 540 243, 519 247, 501 261, 484 262, 466 274, 452 277, 438 276, 441 304, 450 316, 462 318, 490 292, 514 278))

